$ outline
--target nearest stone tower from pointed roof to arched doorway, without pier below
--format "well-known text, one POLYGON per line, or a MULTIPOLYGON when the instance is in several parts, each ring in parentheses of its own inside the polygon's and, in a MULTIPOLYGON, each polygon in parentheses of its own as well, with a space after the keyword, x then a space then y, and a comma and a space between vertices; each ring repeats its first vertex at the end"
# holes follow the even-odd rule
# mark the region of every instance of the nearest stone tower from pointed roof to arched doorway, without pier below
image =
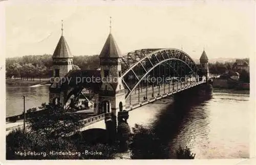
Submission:
POLYGON ((100 75, 102 85, 99 91, 100 111, 114 113, 123 111, 125 92, 121 78, 121 55, 110 33, 100 52, 100 75))

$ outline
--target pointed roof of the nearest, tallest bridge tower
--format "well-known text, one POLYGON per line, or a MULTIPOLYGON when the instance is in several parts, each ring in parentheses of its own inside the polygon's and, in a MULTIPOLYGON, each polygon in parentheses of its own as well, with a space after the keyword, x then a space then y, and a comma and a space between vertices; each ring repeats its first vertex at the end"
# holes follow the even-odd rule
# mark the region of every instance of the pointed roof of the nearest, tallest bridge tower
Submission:
POLYGON ((100 52, 100 58, 121 58, 120 50, 116 44, 113 35, 110 33, 109 37, 100 52))

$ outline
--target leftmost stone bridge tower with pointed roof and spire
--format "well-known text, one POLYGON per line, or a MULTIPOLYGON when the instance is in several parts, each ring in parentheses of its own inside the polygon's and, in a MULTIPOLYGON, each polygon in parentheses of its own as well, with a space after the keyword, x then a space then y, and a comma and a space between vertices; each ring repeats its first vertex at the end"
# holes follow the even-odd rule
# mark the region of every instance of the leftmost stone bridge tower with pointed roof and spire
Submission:
MULTIPOLYGON (((61 28, 61 37, 54 50, 53 59, 53 77, 55 81, 49 87, 49 103, 63 103, 64 92, 60 91, 60 83, 57 81, 65 77, 65 75, 72 70, 73 56, 69 49, 69 45, 63 36, 63 24, 61 28)), ((53 81, 53 78, 52 80, 53 81)))

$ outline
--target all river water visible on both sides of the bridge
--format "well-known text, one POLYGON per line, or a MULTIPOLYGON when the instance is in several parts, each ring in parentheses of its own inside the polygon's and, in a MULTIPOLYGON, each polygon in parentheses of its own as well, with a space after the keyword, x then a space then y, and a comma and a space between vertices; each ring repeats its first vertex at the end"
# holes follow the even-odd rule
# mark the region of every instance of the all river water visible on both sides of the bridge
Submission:
MULTIPOLYGON (((48 86, 6 87, 6 114, 23 112, 48 102, 48 86)), ((164 98, 129 112, 128 123, 141 124, 159 134, 170 153, 189 147, 196 158, 249 157, 249 95, 213 93, 210 98, 164 98)), ((148 144, 150 145, 150 144, 148 144)))

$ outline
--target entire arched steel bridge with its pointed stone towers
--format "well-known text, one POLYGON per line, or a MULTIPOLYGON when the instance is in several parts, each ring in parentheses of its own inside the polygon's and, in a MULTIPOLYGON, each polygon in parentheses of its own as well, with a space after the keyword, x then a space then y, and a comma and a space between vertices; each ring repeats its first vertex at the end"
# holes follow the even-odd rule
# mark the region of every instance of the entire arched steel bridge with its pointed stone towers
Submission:
POLYGON ((63 33, 52 58, 49 104, 80 113, 83 130, 104 122, 106 130, 116 132, 117 122, 127 122, 132 109, 207 83, 209 78, 204 50, 199 65, 176 48, 121 54, 111 33, 100 52, 97 70, 73 70, 73 56, 63 33))

